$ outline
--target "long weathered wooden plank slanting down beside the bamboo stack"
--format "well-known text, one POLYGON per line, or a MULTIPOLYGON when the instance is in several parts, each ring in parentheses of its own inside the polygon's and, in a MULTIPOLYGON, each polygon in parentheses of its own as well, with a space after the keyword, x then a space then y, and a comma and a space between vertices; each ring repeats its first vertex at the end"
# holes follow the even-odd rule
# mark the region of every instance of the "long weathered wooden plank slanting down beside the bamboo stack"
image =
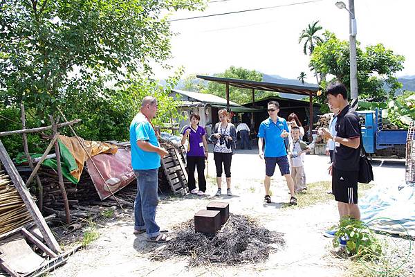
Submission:
POLYGON ((23 200, 24 204, 26 204, 26 208, 28 209, 30 215, 33 217, 33 220, 35 221, 37 227, 41 231, 44 240, 46 241, 46 244, 48 244, 48 247, 50 247, 50 249, 52 249, 56 253, 61 252, 62 250, 59 247, 59 244, 57 243, 55 237, 50 231, 48 224, 46 224, 44 217, 42 216, 42 213, 40 213, 39 211, 39 208, 37 208, 32 195, 30 195, 28 188, 26 188, 23 180, 21 179, 21 176, 19 175, 19 172, 17 172, 17 169, 13 164, 12 160, 10 159, 10 156, 6 151, 6 148, 4 148, 4 145, 1 142, 1 140, 0 160, 3 163, 4 168, 6 168, 6 171, 8 172, 10 179, 13 181, 13 184, 15 184, 15 188, 19 192, 21 199, 23 200))

